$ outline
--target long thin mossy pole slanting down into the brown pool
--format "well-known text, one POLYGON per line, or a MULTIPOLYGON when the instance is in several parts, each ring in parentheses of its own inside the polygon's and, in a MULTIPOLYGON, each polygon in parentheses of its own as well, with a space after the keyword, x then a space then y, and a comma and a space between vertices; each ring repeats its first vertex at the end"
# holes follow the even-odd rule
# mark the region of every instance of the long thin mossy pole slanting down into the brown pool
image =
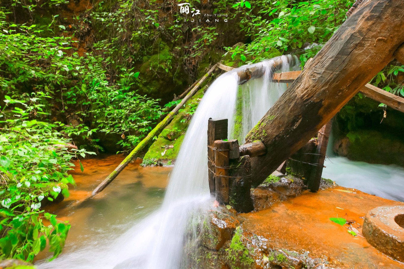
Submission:
POLYGON ((158 136, 160 134, 160 132, 167 126, 168 123, 170 123, 170 121, 174 118, 174 116, 177 114, 177 112, 183 107, 183 105, 185 105, 185 103, 187 103, 187 101, 194 96, 194 94, 198 91, 198 88, 200 86, 200 84, 202 84, 202 82, 213 72, 213 70, 215 69, 216 65, 214 65, 209 71, 208 73, 206 73, 204 75, 204 77, 202 77, 202 79, 194 86, 194 88, 192 88, 187 95, 184 97, 184 99, 182 99, 182 101, 170 112, 167 114, 167 116, 159 123, 157 124, 156 127, 154 127, 153 130, 151 130, 151 132, 149 132, 149 134, 142 140, 140 141, 139 144, 137 144, 137 146, 129 153, 128 156, 126 156, 126 158, 118 165, 118 167, 116 167, 114 169, 114 171, 112 171, 111 174, 109 174, 108 177, 106 177, 93 191, 93 193, 91 193, 91 196, 96 195, 97 193, 99 193, 100 191, 102 191, 103 189, 105 189, 105 187, 108 186, 109 183, 111 183, 116 176, 118 176, 118 174, 124 170, 124 168, 126 166, 128 166, 128 164, 136 157, 136 154, 138 154, 146 145, 148 145, 152 140, 153 137, 158 136))

